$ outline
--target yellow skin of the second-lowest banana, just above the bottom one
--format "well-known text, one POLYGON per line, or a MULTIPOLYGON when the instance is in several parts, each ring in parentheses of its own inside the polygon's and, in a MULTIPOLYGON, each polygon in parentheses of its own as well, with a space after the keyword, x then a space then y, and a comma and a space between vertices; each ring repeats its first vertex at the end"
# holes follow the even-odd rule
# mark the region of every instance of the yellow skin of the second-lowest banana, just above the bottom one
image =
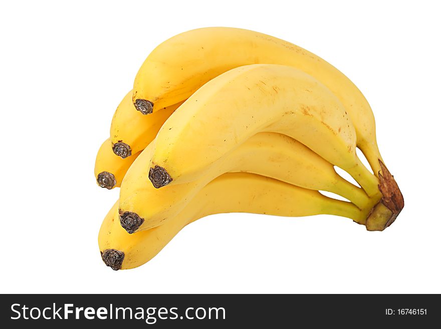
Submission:
POLYGON ((256 134, 201 171, 198 179, 160 189, 154 188, 147 177, 153 145, 154 142, 147 146, 133 163, 121 186, 119 209, 122 225, 130 233, 172 219, 207 183, 226 172, 255 173, 303 188, 333 192, 362 209, 370 209, 373 205, 361 188, 341 178, 329 162, 286 135, 256 134), (126 214, 130 213, 144 220, 139 227, 124 224, 126 214))

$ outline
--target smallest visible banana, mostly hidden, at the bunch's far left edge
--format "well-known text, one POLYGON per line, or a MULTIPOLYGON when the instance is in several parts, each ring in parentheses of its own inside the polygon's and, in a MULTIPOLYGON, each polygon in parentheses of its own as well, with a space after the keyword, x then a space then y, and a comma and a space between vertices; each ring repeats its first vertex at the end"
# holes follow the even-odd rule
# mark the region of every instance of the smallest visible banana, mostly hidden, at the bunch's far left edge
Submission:
POLYGON ((112 152, 112 141, 106 139, 98 150, 95 160, 95 178, 100 187, 111 190, 114 187, 120 187, 122 179, 141 152, 121 159, 112 152))

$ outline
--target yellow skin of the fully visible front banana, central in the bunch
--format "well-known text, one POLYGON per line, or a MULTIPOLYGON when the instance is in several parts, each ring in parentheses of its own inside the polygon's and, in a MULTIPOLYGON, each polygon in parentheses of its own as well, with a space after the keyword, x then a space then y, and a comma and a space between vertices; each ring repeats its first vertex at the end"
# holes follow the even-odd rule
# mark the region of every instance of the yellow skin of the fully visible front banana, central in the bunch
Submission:
POLYGON ((378 179, 355 153, 354 126, 342 103, 313 77, 281 65, 243 66, 203 85, 159 130, 150 168, 165 169, 161 177, 171 177, 169 185, 188 182, 259 132, 298 140, 378 196, 378 179))

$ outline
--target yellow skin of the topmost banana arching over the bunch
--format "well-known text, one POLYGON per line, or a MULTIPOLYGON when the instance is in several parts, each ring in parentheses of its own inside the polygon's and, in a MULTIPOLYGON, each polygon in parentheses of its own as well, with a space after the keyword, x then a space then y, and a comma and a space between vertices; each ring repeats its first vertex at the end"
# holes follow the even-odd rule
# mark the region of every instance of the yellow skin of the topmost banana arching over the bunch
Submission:
POLYGON ((154 49, 133 86, 133 102, 153 103, 153 112, 190 97, 216 76, 249 64, 281 64, 306 72, 328 87, 353 122, 357 146, 375 175, 381 155, 372 110, 358 88, 335 67, 289 42, 254 31, 204 28, 174 36, 154 49), (176 54, 178 54, 176 56, 176 54))

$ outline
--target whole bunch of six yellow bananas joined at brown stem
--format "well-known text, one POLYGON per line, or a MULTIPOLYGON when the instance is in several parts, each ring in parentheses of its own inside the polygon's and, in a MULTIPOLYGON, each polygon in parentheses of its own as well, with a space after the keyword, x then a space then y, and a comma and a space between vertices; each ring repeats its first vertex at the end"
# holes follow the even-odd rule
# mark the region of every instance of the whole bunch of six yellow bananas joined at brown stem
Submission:
POLYGON ((146 263, 210 214, 330 214, 373 231, 404 206, 357 87, 298 46, 234 28, 185 32, 153 50, 115 111, 95 176, 120 187, 98 237, 114 270, 146 263))

